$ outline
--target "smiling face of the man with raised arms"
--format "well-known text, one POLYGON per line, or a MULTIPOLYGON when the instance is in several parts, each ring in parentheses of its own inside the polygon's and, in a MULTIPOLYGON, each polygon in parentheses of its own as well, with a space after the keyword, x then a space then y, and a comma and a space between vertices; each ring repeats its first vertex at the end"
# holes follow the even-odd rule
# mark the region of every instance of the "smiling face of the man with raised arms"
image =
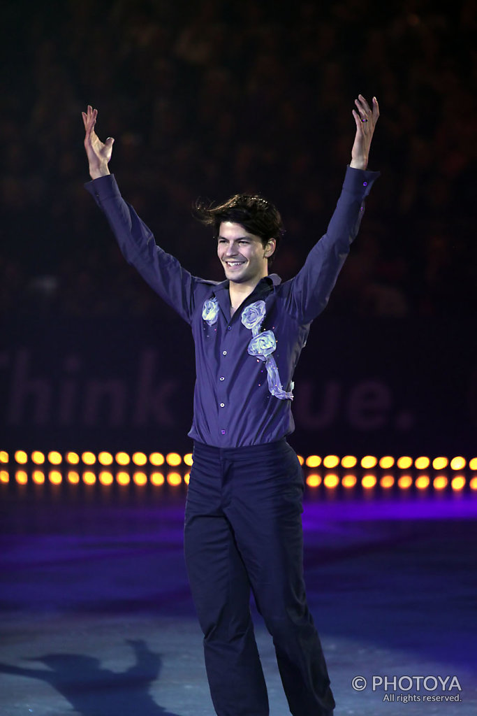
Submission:
POLYGON ((260 236, 247 233, 240 224, 222 221, 217 242, 217 256, 229 281, 255 287, 268 275, 267 258, 275 251, 275 238, 264 246, 260 236))

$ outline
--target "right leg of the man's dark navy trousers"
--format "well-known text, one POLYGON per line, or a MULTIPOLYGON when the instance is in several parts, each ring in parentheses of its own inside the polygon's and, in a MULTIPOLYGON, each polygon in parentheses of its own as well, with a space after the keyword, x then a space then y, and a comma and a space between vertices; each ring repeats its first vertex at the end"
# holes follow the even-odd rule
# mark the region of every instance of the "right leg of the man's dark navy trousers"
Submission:
POLYGON ((226 514, 275 644, 292 715, 329 716, 335 702, 303 580, 303 473, 286 443, 258 454, 248 463, 235 460, 226 514))

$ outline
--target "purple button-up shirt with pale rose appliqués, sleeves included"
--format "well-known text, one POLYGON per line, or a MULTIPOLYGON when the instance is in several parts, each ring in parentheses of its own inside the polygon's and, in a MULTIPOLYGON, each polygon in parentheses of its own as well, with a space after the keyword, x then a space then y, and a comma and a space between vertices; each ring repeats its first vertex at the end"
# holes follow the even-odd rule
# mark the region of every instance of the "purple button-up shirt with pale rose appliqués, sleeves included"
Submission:
POLYGON ((348 167, 328 231, 303 268, 285 283, 276 274, 261 279, 232 318, 229 281, 198 279, 162 251, 122 199, 113 175, 85 185, 104 211, 124 258, 192 328, 197 379, 189 435, 194 440, 235 448, 280 440, 294 430, 292 400, 284 395, 292 392, 310 323, 328 303, 358 233, 364 198, 378 175, 348 167), (257 314, 255 325, 251 312, 257 314))

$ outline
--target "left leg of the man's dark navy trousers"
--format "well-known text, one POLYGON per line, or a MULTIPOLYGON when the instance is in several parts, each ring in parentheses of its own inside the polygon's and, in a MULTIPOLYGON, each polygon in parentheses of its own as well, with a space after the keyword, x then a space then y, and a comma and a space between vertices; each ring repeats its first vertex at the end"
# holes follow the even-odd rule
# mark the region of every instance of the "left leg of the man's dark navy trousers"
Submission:
POLYGON ((218 716, 267 716, 250 583, 222 512, 218 467, 195 453, 185 516, 185 558, 204 633, 207 678, 218 716))

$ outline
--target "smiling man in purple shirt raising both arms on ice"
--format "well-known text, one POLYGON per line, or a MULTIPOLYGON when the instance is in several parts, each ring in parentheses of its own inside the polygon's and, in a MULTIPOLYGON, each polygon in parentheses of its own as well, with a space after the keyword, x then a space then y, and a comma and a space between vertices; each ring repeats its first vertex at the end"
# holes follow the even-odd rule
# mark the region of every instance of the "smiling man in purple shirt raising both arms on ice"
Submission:
POLYGON ((197 279, 164 253, 124 202, 108 163, 114 140, 83 112, 92 182, 129 263, 185 319, 195 339, 194 465, 185 513, 185 557, 204 632, 218 716, 267 716, 265 680, 250 617, 250 589, 273 638, 293 716, 330 716, 335 702, 303 581, 303 474, 286 436, 294 428, 292 376, 311 321, 325 308, 378 173, 367 171, 378 120, 362 95, 343 191, 328 231, 303 268, 268 275, 282 233, 267 200, 236 195, 197 216, 215 227, 225 281, 197 279))

